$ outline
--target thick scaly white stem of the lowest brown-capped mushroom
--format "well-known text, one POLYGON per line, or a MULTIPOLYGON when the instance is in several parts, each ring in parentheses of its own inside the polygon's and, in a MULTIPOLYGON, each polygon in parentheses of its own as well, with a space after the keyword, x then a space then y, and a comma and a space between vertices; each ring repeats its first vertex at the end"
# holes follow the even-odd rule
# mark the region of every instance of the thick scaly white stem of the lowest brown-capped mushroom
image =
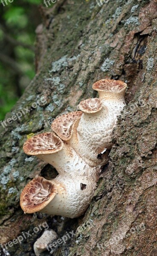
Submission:
POLYGON ((78 175, 71 170, 71 174, 58 175, 52 180, 58 184, 58 193, 41 212, 69 218, 77 218, 85 212, 96 190, 100 169, 88 166, 83 160, 81 166, 79 162, 76 166, 78 175))

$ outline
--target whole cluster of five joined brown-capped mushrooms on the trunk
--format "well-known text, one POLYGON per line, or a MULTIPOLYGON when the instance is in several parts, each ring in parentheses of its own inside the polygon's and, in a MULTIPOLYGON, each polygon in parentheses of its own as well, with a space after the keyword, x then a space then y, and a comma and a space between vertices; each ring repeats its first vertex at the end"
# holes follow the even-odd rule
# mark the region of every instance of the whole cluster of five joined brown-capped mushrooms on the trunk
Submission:
POLYGON ((20 196, 24 212, 76 218, 86 211, 101 166, 109 161, 111 135, 125 106, 126 86, 118 80, 97 81, 93 89, 99 98, 80 102, 81 111, 52 122, 53 132, 38 134, 24 143, 26 154, 39 157, 58 172, 53 180, 38 176, 26 185, 20 196))

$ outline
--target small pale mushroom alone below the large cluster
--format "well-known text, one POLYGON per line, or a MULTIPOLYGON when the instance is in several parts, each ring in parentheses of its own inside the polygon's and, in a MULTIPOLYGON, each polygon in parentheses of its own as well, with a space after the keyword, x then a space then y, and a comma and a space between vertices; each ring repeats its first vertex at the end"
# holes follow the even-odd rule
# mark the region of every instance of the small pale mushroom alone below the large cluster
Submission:
POLYGON ((33 245, 35 255, 39 256, 42 252, 47 250, 49 243, 57 239, 58 235, 54 230, 44 230, 44 233, 40 238, 37 239, 33 245))

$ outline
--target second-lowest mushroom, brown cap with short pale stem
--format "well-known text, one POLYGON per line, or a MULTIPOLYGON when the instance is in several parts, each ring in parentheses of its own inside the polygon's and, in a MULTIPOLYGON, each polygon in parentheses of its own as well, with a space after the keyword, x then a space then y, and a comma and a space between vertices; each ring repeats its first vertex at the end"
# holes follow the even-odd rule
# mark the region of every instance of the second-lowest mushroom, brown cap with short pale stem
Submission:
POLYGON ((69 144, 63 143, 53 132, 38 134, 30 138, 24 143, 23 151, 51 164, 60 174, 69 169, 67 166, 70 167, 77 155, 69 144))

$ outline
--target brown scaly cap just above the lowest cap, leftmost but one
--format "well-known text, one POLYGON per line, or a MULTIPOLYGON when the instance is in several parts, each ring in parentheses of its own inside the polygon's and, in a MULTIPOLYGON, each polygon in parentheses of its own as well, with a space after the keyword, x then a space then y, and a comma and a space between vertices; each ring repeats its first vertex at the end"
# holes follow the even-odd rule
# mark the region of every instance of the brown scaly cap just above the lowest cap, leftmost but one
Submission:
POLYGON ((60 151, 64 143, 53 132, 35 135, 23 144, 23 150, 28 155, 52 154, 60 151))

